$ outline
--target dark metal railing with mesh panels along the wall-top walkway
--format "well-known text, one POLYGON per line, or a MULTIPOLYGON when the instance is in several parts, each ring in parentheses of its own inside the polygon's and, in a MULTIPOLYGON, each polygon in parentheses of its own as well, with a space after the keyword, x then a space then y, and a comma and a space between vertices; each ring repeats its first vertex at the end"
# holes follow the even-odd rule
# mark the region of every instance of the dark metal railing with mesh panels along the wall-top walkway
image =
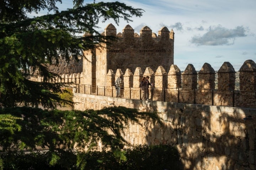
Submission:
MULTIPOLYGON (((76 92, 82 94, 116 97, 115 87, 77 84, 76 92)), ((121 98, 141 100, 142 89, 123 87, 121 89, 121 98)), ((255 91, 149 88, 149 98, 152 101, 256 108, 255 91)))

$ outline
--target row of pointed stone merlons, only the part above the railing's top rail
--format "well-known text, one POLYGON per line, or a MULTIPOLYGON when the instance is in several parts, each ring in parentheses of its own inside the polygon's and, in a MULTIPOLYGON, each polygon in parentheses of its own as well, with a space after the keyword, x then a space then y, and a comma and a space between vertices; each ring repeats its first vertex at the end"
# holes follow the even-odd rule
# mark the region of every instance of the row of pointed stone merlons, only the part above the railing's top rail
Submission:
MULTIPOLYGON (((183 88, 183 89, 216 89, 216 90, 241 90, 256 91, 256 63, 252 60, 246 60, 239 69, 239 88, 235 87, 235 70, 229 62, 224 62, 217 73, 209 63, 204 63, 201 70, 197 72, 193 64, 188 64, 185 71, 181 73, 177 65, 172 64, 167 73, 164 67, 159 66, 154 72, 153 69, 147 67, 143 70, 137 67, 132 71, 117 69, 114 72, 108 70, 106 87, 114 86, 115 80, 121 75, 124 77, 124 87, 138 88, 142 77, 149 76, 150 82, 155 84, 155 88, 183 88), (217 78, 216 75, 217 74, 217 78), (109 79, 109 77, 111 77, 109 79), (216 82, 216 83, 215 83, 216 82), (217 86, 216 86, 217 84, 217 86), (217 88, 216 88, 217 87, 217 88)), ((31 77, 33 81, 43 81, 43 77, 31 77)), ((84 74, 61 74, 51 82, 53 83, 74 83, 84 84, 84 74)), ((92 85, 85 83, 86 85, 92 85)), ((92 85, 93 86, 93 85, 92 85)))

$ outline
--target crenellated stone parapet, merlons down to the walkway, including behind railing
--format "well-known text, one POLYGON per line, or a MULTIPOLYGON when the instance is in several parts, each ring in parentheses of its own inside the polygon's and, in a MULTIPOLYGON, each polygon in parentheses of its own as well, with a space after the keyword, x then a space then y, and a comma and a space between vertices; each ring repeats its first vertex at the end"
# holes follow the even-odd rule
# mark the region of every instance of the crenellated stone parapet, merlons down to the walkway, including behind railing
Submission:
MULTIPOLYGON (((129 68, 126 70, 118 68, 116 72, 110 69, 106 75, 106 86, 83 83, 85 76, 82 72, 62 74, 51 82, 73 83, 78 88, 78 93, 113 97, 115 80, 122 75, 124 81, 122 97, 140 99, 140 81, 143 77, 149 76, 150 83, 154 84, 153 89, 150 87, 150 96, 154 101, 255 107, 255 62, 246 60, 239 72, 239 80, 236 80, 236 72, 229 62, 224 62, 217 73, 209 63, 204 63, 199 72, 195 70, 193 64, 188 64, 182 73, 172 64, 168 73, 162 66, 159 66, 155 72, 150 67, 145 70, 137 67, 134 72, 129 68), (236 83, 240 86, 236 87, 236 83)), ((31 77, 31 80, 43 81, 43 77, 31 77)))

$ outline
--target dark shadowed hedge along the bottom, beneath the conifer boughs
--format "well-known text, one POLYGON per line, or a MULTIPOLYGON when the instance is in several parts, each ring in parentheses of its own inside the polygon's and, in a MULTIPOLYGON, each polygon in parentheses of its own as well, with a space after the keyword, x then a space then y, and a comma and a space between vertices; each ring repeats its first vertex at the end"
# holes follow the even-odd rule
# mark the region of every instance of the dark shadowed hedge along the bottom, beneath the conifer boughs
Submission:
MULTIPOLYGON (((7 153, 1 154, 0 160, 3 170, 181 170, 182 164, 180 155, 175 147, 170 145, 138 145, 130 149, 124 150, 127 160, 120 161, 113 152, 110 151, 89 151, 78 152, 80 159, 76 164, 76 159, 71 157, 65 159, 65 163, 69 166, 64 166, 61 163, 50 165, 51 158, 49 152, 37 153, 7 153)), ((63 163, 63 162, 62 162, 63 163)))

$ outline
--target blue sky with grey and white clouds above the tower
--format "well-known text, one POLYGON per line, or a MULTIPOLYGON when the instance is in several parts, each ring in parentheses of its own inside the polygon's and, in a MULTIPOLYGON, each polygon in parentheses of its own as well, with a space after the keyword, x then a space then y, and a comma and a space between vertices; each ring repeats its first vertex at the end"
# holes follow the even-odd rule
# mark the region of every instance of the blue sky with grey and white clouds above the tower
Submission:
MULTIPOLYGON (((95 0, 100 2, 103 0, 95 0)), ((110 2, 107 0, 104 2, 110 2)), ((256 62, 256 0, 120 0, 128 6, 142 8, 142 17, 133 22, 113 20, 99 23, 99 32, 112 23, 117 33, 129 24, 135 33, 148 26, 158 34, 162 27, 175 33, 174 64, 185 70, 193 64, 200 70, 209 63, 219 70, 224 62, 230 62, 238 72, 246 60, 256 62)), ((85 0, 85 4, 93 0, 85 0)), ((63 0, 59 11, 71 8, 71 0, 63 0)))

